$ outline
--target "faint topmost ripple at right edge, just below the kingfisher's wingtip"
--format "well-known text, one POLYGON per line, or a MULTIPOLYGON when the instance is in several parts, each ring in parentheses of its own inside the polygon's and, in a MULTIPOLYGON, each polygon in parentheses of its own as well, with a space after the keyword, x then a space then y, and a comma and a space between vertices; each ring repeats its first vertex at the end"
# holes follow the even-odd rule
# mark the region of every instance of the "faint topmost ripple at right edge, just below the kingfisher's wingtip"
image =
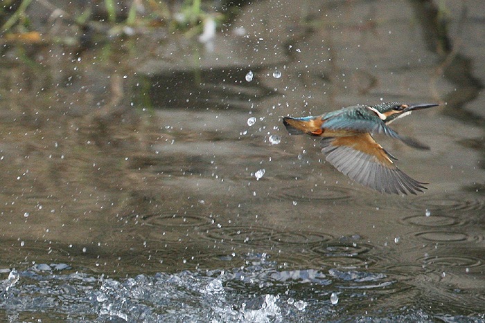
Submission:
POLYGON ((478 211, 485 209, 485 199, 470 194, 421 195, 415 199, 403 200, 400 207, 433 212, 478 211))

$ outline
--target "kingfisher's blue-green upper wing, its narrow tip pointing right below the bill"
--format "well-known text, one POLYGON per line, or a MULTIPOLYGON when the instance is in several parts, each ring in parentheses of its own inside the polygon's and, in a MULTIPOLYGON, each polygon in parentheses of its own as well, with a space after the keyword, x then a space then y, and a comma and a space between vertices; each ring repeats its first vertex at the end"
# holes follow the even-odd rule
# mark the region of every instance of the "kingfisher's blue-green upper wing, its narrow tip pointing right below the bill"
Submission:
POLYGON ((377 115, 364 114, 359 109, 362 109, 362 107, 356 106, 344 109, 343 111, 335 111, 338 113, 327 113, 324 115, 322 127, 334 131, 347 130, 358 133, 384 133, 386 136, 399 139, 406 145, 416 149, 430 149, 430 147, 418 142, 416 139, 400 136, 377 115))

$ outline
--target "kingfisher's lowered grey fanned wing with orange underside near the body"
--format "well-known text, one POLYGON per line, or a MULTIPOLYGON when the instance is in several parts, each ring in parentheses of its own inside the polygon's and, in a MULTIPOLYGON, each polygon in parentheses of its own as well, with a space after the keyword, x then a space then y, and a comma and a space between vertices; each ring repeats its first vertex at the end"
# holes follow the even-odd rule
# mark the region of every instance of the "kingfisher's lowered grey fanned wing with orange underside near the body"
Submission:
POLYGON ((394 158, 373 140, 369 133, 348 137, 327 137, 321 140, 321 151, 328 163, 354 181, 377 190, 394 194, 416 194, 426 189, 407 176, 392 162, 394 158))

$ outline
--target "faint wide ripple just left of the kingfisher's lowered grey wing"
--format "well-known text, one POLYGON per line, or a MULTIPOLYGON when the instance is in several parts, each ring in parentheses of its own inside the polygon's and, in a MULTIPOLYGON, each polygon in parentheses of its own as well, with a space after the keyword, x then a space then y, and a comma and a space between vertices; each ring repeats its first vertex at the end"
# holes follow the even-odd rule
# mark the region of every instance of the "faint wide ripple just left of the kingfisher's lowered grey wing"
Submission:
POLYGON ((351 191, 338 186, 285 187, 279 192, 279 196, 288 201, 311 202, 311 201, 350 201, 351 191))

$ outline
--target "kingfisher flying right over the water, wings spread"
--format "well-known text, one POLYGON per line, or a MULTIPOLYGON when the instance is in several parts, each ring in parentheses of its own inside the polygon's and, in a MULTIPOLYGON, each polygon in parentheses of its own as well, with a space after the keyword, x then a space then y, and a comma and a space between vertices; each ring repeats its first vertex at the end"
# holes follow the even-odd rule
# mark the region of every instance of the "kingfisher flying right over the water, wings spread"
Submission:
POLYGON ((328 163, 354 181, 381 193, 416 194, 427 189, 427 183, 418 182, 401 171, 397 160, 372 137, 384 133, 416 149, 430 149, 427 145, 400 136, 389 127, 398 118, 412 111, 436 107, 439 104, 408 104, 384 102, 376 105, 355 105, 320 116, 303 118, 283 117, 290 135, 307 133, 321 139, 321 151, 328 163))

